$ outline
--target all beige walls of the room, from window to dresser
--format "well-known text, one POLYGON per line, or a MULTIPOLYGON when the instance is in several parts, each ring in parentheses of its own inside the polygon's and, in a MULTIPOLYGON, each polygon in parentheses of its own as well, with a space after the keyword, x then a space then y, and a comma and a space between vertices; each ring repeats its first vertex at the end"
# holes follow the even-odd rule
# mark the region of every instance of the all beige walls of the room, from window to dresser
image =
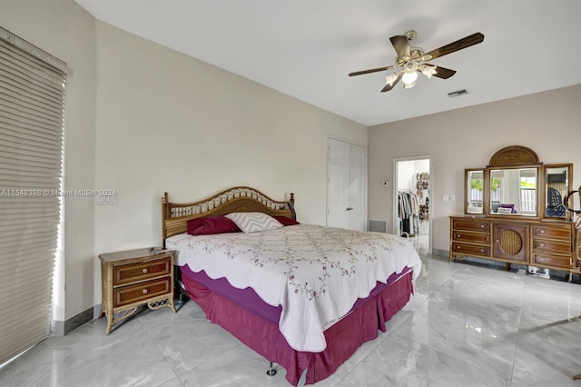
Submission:
MULTIPOLYGON (((327 136, 368 144, 362 125, 95 23, 73 0, 3 0, 0 25, 73 70, 65 188, 119 193, 109 206, 66 198, 64 320, 100 303, 98 253, 160 243, 164 191, 181 201, 232 184, 276 198, 295 192, 300 220, 323 224, 327 136)), ((503 146, 575 163, 580 184, 578 106, 581 86, 370 128, 369 218, 391 224, 391 190, 380 184, 395 157, 434 157, 440 250, 448 250, 448 215, 462 212, 464 168, 486 165, 503 146), (458 200, 443 203, 443 193, 458 200)))

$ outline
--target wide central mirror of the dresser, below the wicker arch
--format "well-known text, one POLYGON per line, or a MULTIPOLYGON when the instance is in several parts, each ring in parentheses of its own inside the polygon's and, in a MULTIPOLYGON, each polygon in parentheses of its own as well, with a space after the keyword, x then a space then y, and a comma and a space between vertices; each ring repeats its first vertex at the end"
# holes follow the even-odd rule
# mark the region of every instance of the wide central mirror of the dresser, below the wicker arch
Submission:
POLYGON ((538 167, 488 170, 490 215, 538 216, 538 167))

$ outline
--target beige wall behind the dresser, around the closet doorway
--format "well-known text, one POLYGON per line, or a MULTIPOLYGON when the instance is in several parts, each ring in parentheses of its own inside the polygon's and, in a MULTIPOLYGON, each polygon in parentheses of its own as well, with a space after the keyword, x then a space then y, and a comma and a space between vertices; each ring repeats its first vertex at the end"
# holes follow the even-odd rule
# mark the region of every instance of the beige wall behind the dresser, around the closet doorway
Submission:
POLYGON ((369 219, 392 225, 392 189, 398 157, 433 156, 433 248, 449 250, 449 215, 462 214, 464 169, 486 166, 500 148, 523 145, 545 164, 573 163, 581 184, 581 85, 369 128, 369 219), (456 195, 443 202, 443 194, 456 195))

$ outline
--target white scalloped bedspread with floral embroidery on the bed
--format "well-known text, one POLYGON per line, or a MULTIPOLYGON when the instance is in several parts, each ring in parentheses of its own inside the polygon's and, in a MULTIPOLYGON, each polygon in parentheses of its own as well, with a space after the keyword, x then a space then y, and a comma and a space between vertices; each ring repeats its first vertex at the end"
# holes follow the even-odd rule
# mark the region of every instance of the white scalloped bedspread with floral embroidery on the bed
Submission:
POLYGON ((279 328, 297 351, 321 352, 323 331, 367 297, 376 282, 404 267, 417 278, 421 261, 407 240, 299 224, 262 233, 222 233, 166 240, 177 250, 176 264, 232 286, 251 287, 264 302, 282 305, 279 328))

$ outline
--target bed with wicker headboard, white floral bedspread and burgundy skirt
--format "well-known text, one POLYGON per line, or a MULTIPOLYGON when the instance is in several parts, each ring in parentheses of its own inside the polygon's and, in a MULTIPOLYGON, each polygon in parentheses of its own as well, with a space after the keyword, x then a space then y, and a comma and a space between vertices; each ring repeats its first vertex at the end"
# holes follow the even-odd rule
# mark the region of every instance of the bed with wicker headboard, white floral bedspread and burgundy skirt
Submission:
POLYGON ((421 268, 399 236, 299 223, 293 193, 275 201, 244 186, 193 203, 165 193, 162 237, 178 290, 292 385, 329 377, 385 332, 421 268))

